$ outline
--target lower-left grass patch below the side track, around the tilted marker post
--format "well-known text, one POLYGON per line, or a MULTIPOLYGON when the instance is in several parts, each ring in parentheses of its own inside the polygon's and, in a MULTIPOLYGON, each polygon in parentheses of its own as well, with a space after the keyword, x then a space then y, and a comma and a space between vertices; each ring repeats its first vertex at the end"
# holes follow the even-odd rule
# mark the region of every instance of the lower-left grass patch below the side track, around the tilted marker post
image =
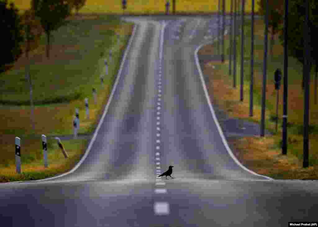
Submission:
POLYGON ((5 148, 11 152, 2 155, 0 182, 39 180, 65 173, 79 162, 89 142, 86 139, 62 141, 69 156, 66 159, 55 139, 48 139, 48 167, 45 168, 41 138, 21 138, 21 174, 18 174, 14 158, 11 157, 14 157, 11 142, 14 140, 8 135, 6 137, 5 148))

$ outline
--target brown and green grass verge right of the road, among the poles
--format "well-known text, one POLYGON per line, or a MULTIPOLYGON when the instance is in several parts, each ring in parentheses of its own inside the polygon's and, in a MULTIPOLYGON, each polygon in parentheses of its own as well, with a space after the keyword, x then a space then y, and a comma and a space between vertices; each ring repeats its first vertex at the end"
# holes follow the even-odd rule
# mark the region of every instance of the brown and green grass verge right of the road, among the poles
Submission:
MULTIPOLYGON (((240 97, 240 36, 237 39, 237 75, 236 89, 233 89, 233 70, 229 75, 228 55, 225 54, 225 63, 209 62, 204 67, 204 73, 211 77, 208 85, 213 102, 218 104, 231 117, 248 119, 260 123, 261 118, 261 92, 263 78, 264 55, 264 22, 262 19, 255 22, 254 46, 254 92, 253 117, 249 117, 249 86, 250 86, 250 52, 251 52, 251 21, 245 23, 245 62, 244 68, 244 99, 240 97), (248 46, 246 46, 248 45, 248 46), (256 49, 255 49, 256 48, 256 49), (215 66, 215 69, 212 68, 215 66)), ((276 37, 277 38, 277 37, 276 37)), ((314 83, 310 84, 310 135, 309 135, 309 167, 302 168, 303 159, 303 106, 304 92, 301 89, 302 65, 296 59, 288 58, 288 146, 287 155, 281 154, 282 144, 282 111, 283 111, 283 83, 279 91, 279 120, 278 132, 275 132, 276 117, 276 90, 274 87, 274 71, 280 68, 283 71, 283 47, 276 39, 273 48, 274 58, 267 60, 266 82, 266 114, 265 127, 273 133, 272 136, 261 138, 229 138, 228 141, 235 147, 236 156, 249 169, 256 173, 268 175, 274 179, 318 179, 318 110, 314 104, 314 83)), ((207 45, 201 53, 214 52, 217 43, 207 45)), ((229 36, 225 37, 225 50, 229 48, 229 36)), ((228 53, 228 52, 227 52, 228 53)), ((199 52, 200 54, 200 52, 199 52)), ((312 76, 314 72, 312 71, 312 76)), ((312 77, 313 78, 313 77, 312 77)), ((313 80, 311 80, 313 81, 313 80)))

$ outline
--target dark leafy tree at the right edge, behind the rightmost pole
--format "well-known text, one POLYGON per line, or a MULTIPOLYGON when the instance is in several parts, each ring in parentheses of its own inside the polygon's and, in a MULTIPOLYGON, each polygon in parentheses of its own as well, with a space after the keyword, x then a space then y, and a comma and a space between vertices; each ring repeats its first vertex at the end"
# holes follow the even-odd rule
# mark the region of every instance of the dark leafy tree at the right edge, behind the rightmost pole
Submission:
MULTIPOLYGON (((288 13, 288 55, 295 57, 303 64, 304 70, 304 21, 305 21, 305 2, 302 0, 290 0, 288 13)), ((309 68, 313 63, 318 62, 318 56, 315 54, 318 51, 318 44, 315 42, 315 32, 318 29, 318 3, 312 0, 309 9, 309 34, 311 47, 311 60, 309 68)), ((283 28, 280 29, 280 40, 284 44, 283 28)), ((304 72, 303 72, 304 76, 304 72)), ((304 78, 302 77, 301 87, 304 89, 304 78)))

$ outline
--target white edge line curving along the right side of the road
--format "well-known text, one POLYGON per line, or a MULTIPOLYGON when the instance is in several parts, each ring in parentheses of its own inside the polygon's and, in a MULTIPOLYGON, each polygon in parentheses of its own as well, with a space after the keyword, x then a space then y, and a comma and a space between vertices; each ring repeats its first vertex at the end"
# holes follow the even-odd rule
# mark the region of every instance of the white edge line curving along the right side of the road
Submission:
MULTIPOLYGON (((227 34, 227 30, 225 30, 224 32, 224 35, 227 34)), ((197 56, 197 53, 199 51, 199 49, 201 49, 202 46, 205 46, 205 45, 208 45, 208 44, 211 44, 213 43, 213 41, 211 42, 208 42, 208 43, 205 43, 205 44, 201 44, 200 46, 197 47, 197 49, 195 50, 194 52, 194 57, 195 57, 195 60, 196 60, 196 64, 197 64, 197 68, 198 68, 198 71, 199 71, 199 74, 200 74, 200 78, 201 78, 201 82, 202 82, 202 86, 203 86, 203 89, 204 89, 204 93, 205 93, 205 97, 206 97, 206 100, 208 101, 208 104, 209 104, 209 107, 210 107, 210 110, 211 110, 211 113, 212 113, 212 117, 213 117, 213 120, 215 122, 215 124, 217 125, 217 128, 218 128, 218 131, 220 133, 220 136, 222 138, 222 141, 223 141, 223 144, 225 145, 225 148, 227 150, 227 152, 230 154, 230 156, 232 157, 232 159, 236 162, 236 164, 238 164, 240 167, 242 167, 244 170, 246 170, 247 172, 251 173, 251 174, 254 174, 254 175, 257 175, 257 176, 262 176, 262 177, 265 177, 267 178, 268 180, 274 180, 273 178, 270 178, 268 176, 264 176, 264 175, 260 175, 260 174, 257 174, 255 172, 253 172, 252 170, 246 168, 245 166, 243 166, 239 160, 237 160, 237 158, 234 156, 234 154, 232 153, 232 150, 231 148, 229 147, 227 141, 226 141, 226 138, 224 136, 224 133, 222 131, 222 128, 220 127, 220 124, 218 122, 218 119, 217 117, 215 116, 215 112, 214 112, 214 109, 211 105, 211 101, 210 101, 210 98, 209 98, 209 94, 207 92, 207 89, 206 89, 206 85, 205 85, 205 82, 204 82, 204 79, 203 79, 203 73, 202 73, 202 70, 201 70, 201 67, 200 67, 200 64, 199 64, 199 59, 198 59, 198 56, 197 56)))

